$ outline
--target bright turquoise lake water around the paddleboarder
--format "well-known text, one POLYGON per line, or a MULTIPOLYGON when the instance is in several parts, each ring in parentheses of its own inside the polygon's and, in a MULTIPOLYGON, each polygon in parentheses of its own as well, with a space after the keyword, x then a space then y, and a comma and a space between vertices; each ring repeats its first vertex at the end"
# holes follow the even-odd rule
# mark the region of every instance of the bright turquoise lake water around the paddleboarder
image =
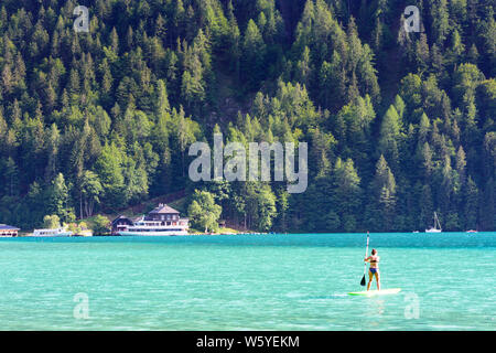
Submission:
POLYGON ((365 244, 358 234, 0 239, 0 325, 496 330, 496 233, 370 234, 382 288, 402 291, 347 296, 362 290, 365 244))

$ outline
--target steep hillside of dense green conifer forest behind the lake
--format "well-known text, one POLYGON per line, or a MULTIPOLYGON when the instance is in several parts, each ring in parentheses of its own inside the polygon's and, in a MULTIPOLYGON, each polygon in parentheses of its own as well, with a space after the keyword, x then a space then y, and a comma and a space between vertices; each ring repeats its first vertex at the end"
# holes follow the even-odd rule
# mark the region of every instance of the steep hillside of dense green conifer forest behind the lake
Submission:
POLYGON ((2 0, 0 223, 209 192, 258 231, 496 227, 490 0, 2 0), (88 33, 73 29, 89 9, 88 33), (421 32, 406 32, 407 6, 421 32), (309 143, 309 188, 193 183, 188 146, 309 143))

